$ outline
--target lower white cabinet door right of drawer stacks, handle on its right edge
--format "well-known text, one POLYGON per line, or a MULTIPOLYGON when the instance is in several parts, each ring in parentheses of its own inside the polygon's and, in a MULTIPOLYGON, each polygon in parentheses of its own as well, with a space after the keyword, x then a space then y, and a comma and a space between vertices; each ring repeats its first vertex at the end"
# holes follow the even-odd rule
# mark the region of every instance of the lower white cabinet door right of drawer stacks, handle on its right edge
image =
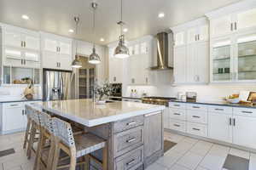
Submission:
POLYGON ((208 113, 208 137, 232 143, 231 115, 208 113))

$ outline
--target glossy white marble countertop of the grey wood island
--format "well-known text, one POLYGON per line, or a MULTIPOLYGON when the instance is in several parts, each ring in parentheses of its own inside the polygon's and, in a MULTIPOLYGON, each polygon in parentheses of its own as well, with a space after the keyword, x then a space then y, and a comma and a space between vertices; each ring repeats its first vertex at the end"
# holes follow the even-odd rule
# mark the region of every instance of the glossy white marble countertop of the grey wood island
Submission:
POLYGON ((91 99, 45 101, 35 105, 45 111, 66 117, 87 127, 94 127, 165 109, 164 105, 149 105, 127 101, 114 101, 105 105, 96 105, 91 99))

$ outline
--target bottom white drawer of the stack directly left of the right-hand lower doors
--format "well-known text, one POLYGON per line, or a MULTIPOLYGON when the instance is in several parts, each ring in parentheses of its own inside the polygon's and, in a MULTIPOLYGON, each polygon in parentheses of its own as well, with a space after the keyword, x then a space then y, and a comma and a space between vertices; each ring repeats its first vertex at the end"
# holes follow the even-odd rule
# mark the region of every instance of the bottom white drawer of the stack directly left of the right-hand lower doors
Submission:
POLYGON ((187 133, 207 137, 207 125, 198 124, 198 123, 194 123, 194 122, 188 122, 187 133))

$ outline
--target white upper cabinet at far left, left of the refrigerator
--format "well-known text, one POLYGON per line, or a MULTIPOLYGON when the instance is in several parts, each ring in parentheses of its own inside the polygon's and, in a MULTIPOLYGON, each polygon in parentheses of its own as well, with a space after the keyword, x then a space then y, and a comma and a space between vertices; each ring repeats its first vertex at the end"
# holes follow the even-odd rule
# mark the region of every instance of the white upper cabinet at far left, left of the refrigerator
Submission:
POLYGON ((15 26, 3 26, 3 65, 40 68, 40 36, 15 26))

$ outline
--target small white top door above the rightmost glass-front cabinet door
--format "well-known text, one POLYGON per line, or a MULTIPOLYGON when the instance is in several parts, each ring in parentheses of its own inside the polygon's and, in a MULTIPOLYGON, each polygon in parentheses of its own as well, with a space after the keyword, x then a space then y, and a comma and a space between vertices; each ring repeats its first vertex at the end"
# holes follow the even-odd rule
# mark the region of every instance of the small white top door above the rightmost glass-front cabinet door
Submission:
POLYGON ((256 8, 238 13, 236 17, 238 31, 256 26, 256 8))

